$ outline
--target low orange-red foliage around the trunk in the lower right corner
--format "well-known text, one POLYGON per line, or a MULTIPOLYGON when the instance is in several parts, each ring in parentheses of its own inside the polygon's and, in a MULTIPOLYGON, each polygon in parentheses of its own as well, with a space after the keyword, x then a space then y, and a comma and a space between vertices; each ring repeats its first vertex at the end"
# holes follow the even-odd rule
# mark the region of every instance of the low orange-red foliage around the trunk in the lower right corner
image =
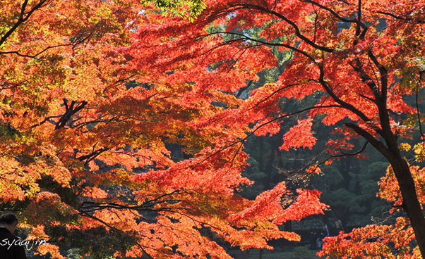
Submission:
MULTIPOLYGON (((418 166, 411 167, 414 181, 419 187, 417 190, 421 203, 424 203, 423 171, 423 168, 419 169, 418 166)), ((319 255, 327 254, 338 258, 421 258, 414 230, 409 224, 407 214, 400 209, 402 198, 393 168, 388 167, 379 185, 379 196, 394 204, 390 212, 381 217, 379 224, 367 225, 353 229, 351 233, 326 239, 319 255)))

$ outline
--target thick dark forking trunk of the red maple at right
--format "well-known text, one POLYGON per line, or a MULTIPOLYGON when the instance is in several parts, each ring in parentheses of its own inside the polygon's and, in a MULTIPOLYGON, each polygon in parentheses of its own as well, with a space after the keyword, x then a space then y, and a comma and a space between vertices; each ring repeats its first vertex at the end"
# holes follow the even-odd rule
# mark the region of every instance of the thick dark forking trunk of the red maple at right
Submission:
MULTIPOLYGON (((354 44, 355 45, 355 44, 354 44)), ((368 51, 368 56, 373 62, 373 64, 378 68, 380 79, 379 82, 375 82, 369 77, 369 75, 366 73, 366 71, 363 68, 363 64, 361 63, 360 59, 357 58, 355 63, 353 63, 353 68, 357 72, 359 72, 359 76, 361 77, 361 80, 364 81, 366 85, 368 85, 373 92, 374 95, 374 103, 376 104, 376 107, 378 108, 379 113, 379 127, 378 126, 372 126, 372 129, 381 137, 384 141, 381 141, 380 139, 376 139, 373 135, 371 135, 368 131, 364 130, 363 128, 359 127, 359 125, 354 125, 352 123, 346 123, 347 127, 352 128, 357 134, 359 134, 361 137, 364 137, 366 141, 369 141, 369 143, 379 152, 385 156, 385 158, 388 159, 390 162, 395 177, 398 182, 398 186, 400 187, 400 192, 402 194, 402 208, 406 211, 407 216, 409 217, 410 224, 412 225, 412 228, 414 230, 414 234, 417 239, 417 244, 419 246, 419 250, 421 251, 422 257, 425 257, 425 218, 424 213, 421 210, 421 204, 419 203, 416 188, 414 185, 414 179, 412 177, 412 173, 410 172, 409 165, 407 164, 407 161, 405 158, 402 157, 400 153, 400 149, 398 148, 397 144, 397 134, 395 134, 391 128, 390 124, 390 115, 389 110, 387 106, 388 102, 388 72, 385 66, 383 66, 381 63, 379 63, 378 59, 372 51, 368 51), (381 85, 379 85, 379 83, 381 85), (385 144, 384 144, 385 143, 385 144)), ((321 80, 323 87, 328 90, 328 93, 330 96, 333 97, 335 101, 339 101, 342 103, 343 106, 346 106, 346 108, 351 109, 355 113, 359 113, 359 117, 361 117, 364 122, 370 122, 370 119, 364 116, 363 113, 359 112, 359 110, 356 110, 355 108, 352 109, 352 106, 350 106, 347 103, 344 103, 340 101, 335 96, 335 93, 333 93, 332 90, 328 89, 327 85, 323 81, 323 75, 324 70, 321 69, 321 80)))

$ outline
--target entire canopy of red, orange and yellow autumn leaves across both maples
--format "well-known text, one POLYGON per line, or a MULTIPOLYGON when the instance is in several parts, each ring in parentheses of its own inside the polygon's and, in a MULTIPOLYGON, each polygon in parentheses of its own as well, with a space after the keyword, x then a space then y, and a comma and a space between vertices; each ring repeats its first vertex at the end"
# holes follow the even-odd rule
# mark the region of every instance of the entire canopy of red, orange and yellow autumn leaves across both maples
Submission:
POLYGON ((244 141, 295 116, 281 150, 311 149, 313 123, 337 127, 299 179, 371 145, 391 164, 380 196, 407 213, 329 239, 323 254, 425 253, 423 170, 401 153, 424 158, 423 139, 402 143, 422 133, 404 97, 421 97, 424 1, 172 3, 1 3, 1 210, 51 241, 38 252, 230 258, 213 237, 242 249, 299 240, 278 225, 322 213, 318 191, 282 182, 238 195, 252 184, 244 141), (274 68, 277 80, 248 88, 274 68))

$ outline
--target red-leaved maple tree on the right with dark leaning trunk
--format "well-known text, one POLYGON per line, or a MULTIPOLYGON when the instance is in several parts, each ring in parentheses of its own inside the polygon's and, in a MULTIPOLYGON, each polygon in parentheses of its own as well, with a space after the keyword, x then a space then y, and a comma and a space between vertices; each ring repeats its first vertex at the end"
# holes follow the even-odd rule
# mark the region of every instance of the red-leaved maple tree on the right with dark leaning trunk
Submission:
MULTIPOLYGON (((190 16, 190 2, 186 4, 174 6, 170 13, 190 16)), ((421 139, 413 150, 418 161, 424 156, 419 95, 425 68, 425 2, 222 0, 203 4, 205 9, 192 18, 193 23, 174 15, 148 15, 150 23, 138 28, 137 42, 127 49, 134 58, 133 68, 147 72, 150 82, 186 84, 193 91, 191 98, 215 103, 219 112, 194 122, 205 130, 242 128, 260 136, 277 134, 285 118, 299 117, 297 125, 283 135, 280 149, 285 151, 311 149, 316 144, 313 122, 330 126, 342 122, 327 142, 328 158, 311 165, 306 177, 335 159, 361 157, 371 145, 390 163, 391 173, 381 182, 380 195, 397 201, 395 206, 407 217, 400 217, 395 227, 373 225, 329 239, 325 252, 346 258, 424 255, 424 186, 417 177, 421 169, 414 161, 409 164, 403 151, 412 150, 407 140, 419 133, 421 139), (258 80, 258 72, 280 65, 270 51, 275 48, 293 55, 278 80, 253 89, 247 99, 238 99, 238 91, 258 80), (416 104, 406 103, 404 97, 409 95, 416 104), (297 111, 282 110, 287 100, 307 96, 315 97, 315 103, 297 111), (352 144, 357 138, 364 139, 363 146, 352 144), (378 241, 367 243, 373 237, 378 241), (417 242, 415 248, 412 239, 417 242)), ((246 136, 235 137, 239 141, 233 145, 217 146, 242 149, 246 136)))

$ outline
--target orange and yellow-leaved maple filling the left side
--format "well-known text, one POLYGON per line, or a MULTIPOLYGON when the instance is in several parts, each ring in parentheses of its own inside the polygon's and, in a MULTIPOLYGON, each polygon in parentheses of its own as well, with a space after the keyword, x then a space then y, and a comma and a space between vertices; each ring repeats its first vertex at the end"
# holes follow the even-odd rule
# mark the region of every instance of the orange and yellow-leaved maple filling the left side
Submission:
POLYGON ((0 9, 1 210, 20 212, 28 239, 48 240, 38 253, 64 258, 71 244, 93 258, 229 258, 211 233, 271 248, 269 239, 299 240, 277 225, 326 208, 318 191, 285 183, 255 201, 237 194, 251 182, 235 143, 251 130, 222 123, 223 106, 243 103, 224 91, 261 66, 246 59, 252 70, 219 78, 209 58, 185 62, 183 50, 165 49, 182 46, 159 30, 169 18, 138 1, 11 0, 0 9), (193 83, 214 77, 208 89, 193 83))

